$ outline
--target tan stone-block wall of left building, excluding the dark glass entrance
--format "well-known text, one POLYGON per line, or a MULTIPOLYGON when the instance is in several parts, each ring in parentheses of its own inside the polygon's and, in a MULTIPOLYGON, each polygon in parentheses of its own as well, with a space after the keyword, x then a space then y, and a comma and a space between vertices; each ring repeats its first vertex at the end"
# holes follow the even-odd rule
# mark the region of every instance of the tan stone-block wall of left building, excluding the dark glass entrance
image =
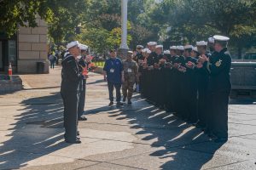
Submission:
POLYGON ((18 33, 19 73, 36 73, 37 62, 44 62, 44 73, 49 73, 47 56, 47 25, 44 20, 37 19, 38 27, 20 27, 18 33))

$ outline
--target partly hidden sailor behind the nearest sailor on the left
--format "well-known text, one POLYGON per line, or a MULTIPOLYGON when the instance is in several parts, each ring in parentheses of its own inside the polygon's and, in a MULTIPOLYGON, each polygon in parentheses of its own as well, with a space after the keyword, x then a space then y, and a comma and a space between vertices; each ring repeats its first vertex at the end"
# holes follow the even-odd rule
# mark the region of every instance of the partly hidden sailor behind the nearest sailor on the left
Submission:
MULTIPOLYGON (((87 54, 88 46, 84 44, 80 44, 81 49, 81 58, 79 59, 79 68, 81 72, 86 73, 87 67, 85 64, 85 57, 87 54)), ((87 75, 83 75, 83 78, 80 81, 80 92, 79 92, 79 108, 78 108, 78 120, 79 121, 86 121, 87 118, 84 116, 84 104, 85 104, 85 89, 86 89, 86 79, 87 75)))

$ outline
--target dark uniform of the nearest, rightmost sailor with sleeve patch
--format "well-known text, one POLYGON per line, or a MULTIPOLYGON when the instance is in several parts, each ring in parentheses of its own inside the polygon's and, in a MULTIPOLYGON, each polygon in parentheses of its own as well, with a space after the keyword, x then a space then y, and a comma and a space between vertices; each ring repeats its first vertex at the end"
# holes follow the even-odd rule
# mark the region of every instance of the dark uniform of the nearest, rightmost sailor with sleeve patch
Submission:
POLYGON ((227 48, 212 54, 212 61, 207 62, 209 77, 209 130, 218 139, 228 138, 228 105, 231 89, 231 56, 227 48))

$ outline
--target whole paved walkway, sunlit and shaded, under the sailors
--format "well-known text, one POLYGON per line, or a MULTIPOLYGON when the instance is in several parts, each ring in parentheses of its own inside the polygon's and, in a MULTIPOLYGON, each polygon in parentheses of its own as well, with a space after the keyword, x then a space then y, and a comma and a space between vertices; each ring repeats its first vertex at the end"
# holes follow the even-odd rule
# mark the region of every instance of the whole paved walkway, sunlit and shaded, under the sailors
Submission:
POLYGON ((88 80, 82 144, 63 141, 61 68, 22 75, 25 89, 0 95, 0 169, 256 169, 256 105, 230 105, 230 138, 215 144, 148 105, 108 107, 102 76, 88 80))

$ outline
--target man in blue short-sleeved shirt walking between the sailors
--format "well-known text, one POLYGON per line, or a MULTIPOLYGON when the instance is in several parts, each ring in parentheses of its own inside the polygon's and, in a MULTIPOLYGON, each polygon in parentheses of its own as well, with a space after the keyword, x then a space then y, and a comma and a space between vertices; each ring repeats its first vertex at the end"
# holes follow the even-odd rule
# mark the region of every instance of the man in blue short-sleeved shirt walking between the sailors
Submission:
POLYGON ((110 50, 110 59, 107 59, 103 68, 104 80, 108 82, 109 106, 113 105, 113 87, 116 90, 117 105, 123 105, 120 89, 124 82, 124 68, 121 59, 116 57, 115 50, 110 50))

